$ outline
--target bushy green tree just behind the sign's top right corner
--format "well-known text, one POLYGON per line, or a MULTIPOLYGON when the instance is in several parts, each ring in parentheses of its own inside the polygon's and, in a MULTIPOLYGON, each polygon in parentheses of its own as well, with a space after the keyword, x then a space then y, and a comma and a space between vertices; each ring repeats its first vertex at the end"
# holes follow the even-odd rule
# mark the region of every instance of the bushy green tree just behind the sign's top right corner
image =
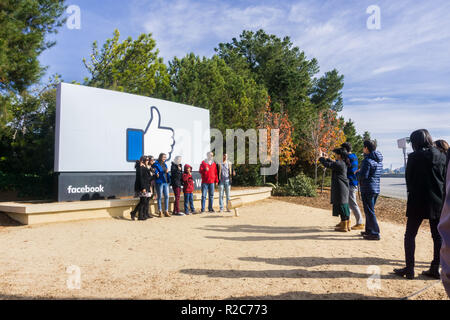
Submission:
POLYGON ((239 74, 214 55, 193 53, 170 62, 173 99, 210 110, 211 127, 256 128, 256 115, 264 108, 267 91, 252 78, 239 74))

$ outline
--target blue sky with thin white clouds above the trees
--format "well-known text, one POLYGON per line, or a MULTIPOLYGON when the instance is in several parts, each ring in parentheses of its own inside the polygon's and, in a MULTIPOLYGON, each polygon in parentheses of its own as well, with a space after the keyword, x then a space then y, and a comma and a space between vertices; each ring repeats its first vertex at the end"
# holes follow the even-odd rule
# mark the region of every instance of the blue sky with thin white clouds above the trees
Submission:
MULTIPOLYGON (((219 42, 242 30, 289 36, 317 58, 320 74, 345 76, 346 119, 370 131, 385 167, 403 164, 396 140, 419 128, 450 141, 450 1, 68 1, 81 10, 81 29, 63 27, 56 46, 41 55, 48 76, 66 82, 87 76, 82 58, 91 44, 151 32, 167 63, 188 52, 211 56, 219 42), (381 29, 369 30, 370 5, 380 8, 381 29)), ((319 75, 320 75, 319 74, 319 75)))

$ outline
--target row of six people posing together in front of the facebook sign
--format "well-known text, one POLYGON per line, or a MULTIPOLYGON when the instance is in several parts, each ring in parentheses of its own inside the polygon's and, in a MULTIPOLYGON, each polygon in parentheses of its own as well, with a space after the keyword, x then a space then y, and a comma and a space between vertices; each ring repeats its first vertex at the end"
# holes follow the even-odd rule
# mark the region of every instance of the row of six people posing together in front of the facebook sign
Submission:
POLYGON ((170 170, 167 165, 167 155, 161 153, 157 160, 152 156, 142 156, 136 161, 135 192, 139 197, 139 203, 131 211, 131 219, 147 220, 153 218, 149 213, 150 199, 156 196, 158 204, 158 216, 170 217, 173 215, 184 216, 194 213, 205 212, 206 198, 208 197, 208 212, 214 212, 214 189, 219 186, 219 207, 220 212, 224 211, 223 196, 226 195, 226 210, 229 212, 230 188, 232 177, 235 175, 231 161, 227 154, 223 155, 221 162, 214 161, 214 154, 207 153, 207 158, 200 164, 199 172, 202 178, 201 191, 201 211, 196 212, 194 208, 194 179, 192 177, 192 167, 181 164, 181 156, 176 156, 172 161, 170 170), (169 186, 172 187, 175 195, 175 202, 172 214, 169 212, 169 186), (184 194, 184 211, 180 211, 180 194, 184 194), (162 207, 164 198, 164 208, 162 207))

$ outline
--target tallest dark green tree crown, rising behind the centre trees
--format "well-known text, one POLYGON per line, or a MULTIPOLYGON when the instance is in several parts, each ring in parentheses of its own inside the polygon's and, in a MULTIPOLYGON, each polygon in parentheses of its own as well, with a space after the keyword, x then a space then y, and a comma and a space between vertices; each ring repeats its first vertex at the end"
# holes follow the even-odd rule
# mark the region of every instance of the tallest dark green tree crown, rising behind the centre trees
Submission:
POLYGON ((215 50, 231 67, 250 72, 267 88, 273 111, 287 112, 294 127, 300 125, 309 106, 312 77, 319 71, 316 59, 306 59, 289 37, 280 39, 264 30, 244 30, 239 39, 220 43, 215 50))

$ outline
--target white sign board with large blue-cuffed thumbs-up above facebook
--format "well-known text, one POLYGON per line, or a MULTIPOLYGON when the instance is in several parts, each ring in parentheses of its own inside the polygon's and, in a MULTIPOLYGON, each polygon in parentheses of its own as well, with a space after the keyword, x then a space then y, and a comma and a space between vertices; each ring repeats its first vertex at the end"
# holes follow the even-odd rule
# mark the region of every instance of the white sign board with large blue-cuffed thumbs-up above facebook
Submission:
MULTIPOLYGON (((197 170, 210 146, 209 111, 117 91, 61 83, 55 172, 130 172, 142 154, 181 156, 197 170)), ((170 161, 169 161, 170 162, 170 161)))

